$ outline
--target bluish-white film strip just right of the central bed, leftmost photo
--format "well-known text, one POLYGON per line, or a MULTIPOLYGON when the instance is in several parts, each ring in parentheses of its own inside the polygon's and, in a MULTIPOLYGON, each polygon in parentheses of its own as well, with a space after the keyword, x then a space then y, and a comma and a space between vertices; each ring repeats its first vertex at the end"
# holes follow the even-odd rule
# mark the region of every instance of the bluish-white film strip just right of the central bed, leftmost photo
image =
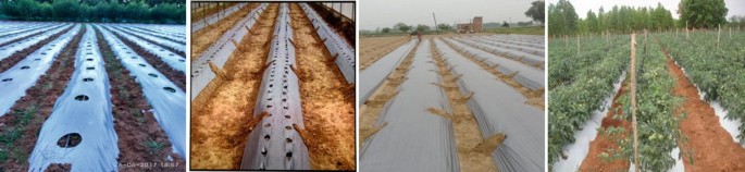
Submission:
POLYGON ((150 65, 142 57, 116 38, 111 30, 96 25, 116 58, 142 88, 158 124, 171 140, 174 152, 186 156, 186 94, 150 65), (140 65, 141 64, 141 65, 140 65))

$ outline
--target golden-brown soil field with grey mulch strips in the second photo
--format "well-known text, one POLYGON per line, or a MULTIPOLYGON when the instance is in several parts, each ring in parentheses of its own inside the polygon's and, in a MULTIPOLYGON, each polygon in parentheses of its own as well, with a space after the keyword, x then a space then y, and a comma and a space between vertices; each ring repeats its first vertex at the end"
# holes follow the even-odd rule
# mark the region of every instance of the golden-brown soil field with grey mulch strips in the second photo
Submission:
POLYGON ((193 23, 190 169, 355 170, 355 45, 332 24, 349 19, 321 3, 225 10, 193 23))

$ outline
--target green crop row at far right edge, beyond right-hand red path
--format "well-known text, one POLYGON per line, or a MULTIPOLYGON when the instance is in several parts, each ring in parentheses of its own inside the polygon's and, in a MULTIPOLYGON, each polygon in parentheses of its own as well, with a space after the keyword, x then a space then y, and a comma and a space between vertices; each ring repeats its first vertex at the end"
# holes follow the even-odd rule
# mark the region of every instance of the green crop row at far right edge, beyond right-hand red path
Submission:
MULTIPOLYGON (((745 121, 745 34, 732 38, 723 34, 720 48, 716 33, 692 34, 690 40, 674 34, 661 34, 658 38, 707 101, 721 102, 728 119, 745 121)), ((738 131, 745 133, 745 125, 738 131)), ((745 143, 745 135, 737 138, 745 143)))

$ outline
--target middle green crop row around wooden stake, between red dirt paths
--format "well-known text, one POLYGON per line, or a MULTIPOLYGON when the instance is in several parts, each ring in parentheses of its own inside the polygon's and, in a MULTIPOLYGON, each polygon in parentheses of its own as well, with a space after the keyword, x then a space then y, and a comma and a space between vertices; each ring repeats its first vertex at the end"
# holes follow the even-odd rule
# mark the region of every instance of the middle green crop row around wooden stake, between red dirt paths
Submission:
MULTIPOLYGON (((670 153, 682 143, 680 122, 684 116, 674 114, 682 102, 681 97, 672 94, 675 79, 668 72, 667 59, 660 47, 651 38, 637 36, 636 47, 636 122, 638 134, 638 165, 642 171, 666 171, 675 165, 679 157, 670 153)), ((623 95, 618 103, 621 105, 620 118, 631 121, 630 94, 623 95)), ((605 135, 631 136, 631 128, 611 126, 605 130, 605 135)), ((633 160, 633 137, 608 137, 621 146, 621 151, 610 151, 606 155, 633 160)), ((687 151, 686 151, 687 152, 687 151)), ((596 156, 596 155, 588 155, 596 156)), ((682 165, 682 164, 679 164, 682 165)))

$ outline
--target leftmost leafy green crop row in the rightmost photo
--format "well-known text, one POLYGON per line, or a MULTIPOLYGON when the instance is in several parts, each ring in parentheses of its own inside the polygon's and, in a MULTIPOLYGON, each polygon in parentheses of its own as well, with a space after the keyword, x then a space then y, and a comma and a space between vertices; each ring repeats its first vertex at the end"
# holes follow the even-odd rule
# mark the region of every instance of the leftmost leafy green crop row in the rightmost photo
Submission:
MULTIPOLYGON (((583 56, 580 58, 555 57, 549 53, 549 61, 558 61, 567 65, 585 59, 588 62, 584 66, 568 73, 571 83, 557 85, 549 88, 548 93, 548 162, 549 168, 562 156, 562 148, 574 142, 574 131, 587 120, 592 112, 604 107, 603 99, 613 95, 613 83, 626 71, 629 65, 630 48, 629 37, 618 37, 613 44, 588 44, 587 50, 597 51, 610 47, 603 54, 583 56), (592 63, 591 63, 592 62, 592 63)), ((549 47, 561 47, 555 44, 563 44, 564 40, 554 40, 549 47)), ((592 41, 592 40, 591 40, 592 41)), ((571 48, 555 48, 551 51, 575 51, 571 48)), ((593 52, 596 53, 596 52, 593 52)), ((556 63, 556 62, 554 62, 556 63)), ((549 67, 550 69, 550 67, 549 67)), ((550 73, 549 73, 550 74, 550 73)), ((550 78, 550 75, 549 75, 550 78)), ((550 81, 549 81, 550 82, 550 81)))

